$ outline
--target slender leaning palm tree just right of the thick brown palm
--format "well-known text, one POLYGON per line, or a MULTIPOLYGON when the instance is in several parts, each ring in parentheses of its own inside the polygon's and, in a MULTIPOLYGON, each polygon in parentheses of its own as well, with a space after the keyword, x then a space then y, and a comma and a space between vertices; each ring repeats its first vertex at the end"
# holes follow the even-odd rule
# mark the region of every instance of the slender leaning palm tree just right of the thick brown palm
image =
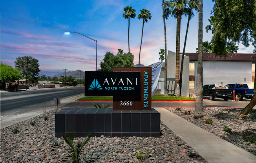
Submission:
POLYGON ((183 62, 184 62, 184 53, 185 53, 185 48, 186 48, 187 36, 188 36, 188 26, 189 26, 190 19, 192 19, 195 16, 193 10, 195 10, 196 12, 198 11, 198 0, 189 0, 188 6, 189 6, 189 8, 186 8, 187 12, 185 12, 186 14, 188 14, 188 23, 187 23, 187 30, 186 30, 184 47, 183 47, 183 52, 182 52, 182 59, 181 59, 181 73, 180 73, 180 77, 179 77, 180 92, 181 92, 181 87, 182 87, 183 62))

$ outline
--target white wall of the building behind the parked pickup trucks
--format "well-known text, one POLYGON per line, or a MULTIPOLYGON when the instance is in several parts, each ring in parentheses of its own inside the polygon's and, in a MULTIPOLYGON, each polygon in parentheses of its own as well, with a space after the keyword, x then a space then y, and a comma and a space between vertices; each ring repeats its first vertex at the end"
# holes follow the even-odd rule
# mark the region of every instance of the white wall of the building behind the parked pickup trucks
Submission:
MULTIPOLYGON (((195 62, 195 76, 197 74, 197 62, 195 62)), ((252 85, 251 62, 210 62, 203 61, 203 85, 232 83, 244 83, 249 88, 252 85)), ((196 82, 195 82, 196 88, 196 82)))

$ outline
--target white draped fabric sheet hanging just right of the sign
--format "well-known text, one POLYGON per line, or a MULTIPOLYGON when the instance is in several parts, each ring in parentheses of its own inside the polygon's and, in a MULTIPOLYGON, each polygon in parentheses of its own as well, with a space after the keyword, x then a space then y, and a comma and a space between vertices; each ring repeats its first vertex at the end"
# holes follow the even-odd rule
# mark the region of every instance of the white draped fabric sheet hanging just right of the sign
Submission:
POLYGON ((162 65, 163 65, 163 61, 154 63, 151 66, 152 67, 152 87, 151 87, 151 95, 152 96, 155 94, 155 90, 156 90, 156 87, 157 87, 157 84, 158 84, 158 80, 159 80, 162 65))

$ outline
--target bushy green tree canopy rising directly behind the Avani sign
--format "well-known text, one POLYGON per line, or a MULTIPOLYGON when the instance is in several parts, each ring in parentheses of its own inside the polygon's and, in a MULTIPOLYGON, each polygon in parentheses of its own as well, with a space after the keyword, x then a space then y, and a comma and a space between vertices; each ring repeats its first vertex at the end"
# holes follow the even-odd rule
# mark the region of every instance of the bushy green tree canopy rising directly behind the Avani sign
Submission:
MULTIPOLYGON (((121 50, 121 49, 120 49, 121 50)), ((102 71, 113 71, 113 67, 133 67, 134 55, 131 53, 121 53, 123 50, 119 51, 117 55, 107 52, 100 63, 102 71)))

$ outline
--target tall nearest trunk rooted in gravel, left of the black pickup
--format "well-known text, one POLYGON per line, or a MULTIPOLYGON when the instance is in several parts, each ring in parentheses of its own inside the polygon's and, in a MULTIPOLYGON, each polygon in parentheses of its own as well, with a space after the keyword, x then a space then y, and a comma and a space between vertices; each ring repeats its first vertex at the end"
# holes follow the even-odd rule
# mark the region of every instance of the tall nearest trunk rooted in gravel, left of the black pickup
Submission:
POLYGON ((198 17, 198 59, 195 112, 203 112, 203 0, 199 0, 198 17))

